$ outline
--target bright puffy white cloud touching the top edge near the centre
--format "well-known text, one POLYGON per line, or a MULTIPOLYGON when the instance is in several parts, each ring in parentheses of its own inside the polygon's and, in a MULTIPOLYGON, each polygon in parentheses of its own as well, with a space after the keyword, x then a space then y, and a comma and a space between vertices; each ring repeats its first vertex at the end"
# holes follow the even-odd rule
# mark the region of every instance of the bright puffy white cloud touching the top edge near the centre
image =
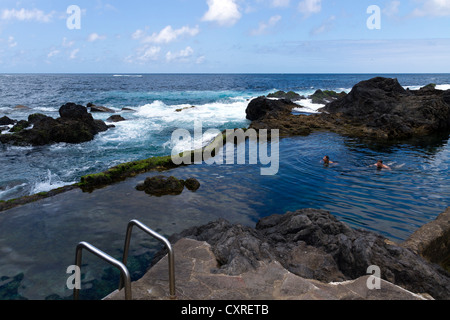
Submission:
POLYGON ((236 0, 208 0, 208 11, 203 21, 217 22, 221 26, 232 26, 241 19, 242 14, 236 0))

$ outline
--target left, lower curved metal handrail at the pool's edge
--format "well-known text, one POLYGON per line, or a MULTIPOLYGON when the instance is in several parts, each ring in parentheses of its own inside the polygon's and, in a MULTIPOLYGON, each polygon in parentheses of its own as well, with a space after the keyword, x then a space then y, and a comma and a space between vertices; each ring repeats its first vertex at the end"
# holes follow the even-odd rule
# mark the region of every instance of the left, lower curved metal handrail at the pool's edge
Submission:
MULTIPOLYGON (((132 299, 131 276, 130 276, 130 272, 128 271, 125 264, 114 259, 110 255, 104 253, 103 251, 97 249, 96 247, 94 247, 93 245, 91 245, 87 242, 80 242, 77 246, 76 257, 75 257, 75 264, 79 268, 79 270, 81 270, 81 259, 82 259, 83 249, 90 251, 97 257, 105 260, 106 262, 108 262, 109 264, 112 264, 113 266, 115 266, 116 268, 118 268, 120 270, 121 284, 123 284, 124 282, 125 282, 125 284, 122 285, 121 288, 119 288, 119 291, 122 290, 123 287, 125 287, 125 300, 131 300, 132 299), (125 281, 124 281, 124 279, 125 279, 125 281)), ((80 289, 75 287, 74 291, 73 291, 73 299, 78 300, 79 297, 80 297, 80 289)))

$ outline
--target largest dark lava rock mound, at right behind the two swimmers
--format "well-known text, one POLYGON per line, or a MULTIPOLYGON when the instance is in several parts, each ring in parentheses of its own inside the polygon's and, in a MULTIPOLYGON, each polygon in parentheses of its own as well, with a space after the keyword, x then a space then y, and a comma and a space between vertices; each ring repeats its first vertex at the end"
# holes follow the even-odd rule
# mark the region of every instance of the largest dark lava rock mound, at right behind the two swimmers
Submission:
POLYGON ((405 139, 450 130, 448 93, 427 88, 405 90, 397 79, 362 81, 344 98, 321 111, 386 139, 405 139))

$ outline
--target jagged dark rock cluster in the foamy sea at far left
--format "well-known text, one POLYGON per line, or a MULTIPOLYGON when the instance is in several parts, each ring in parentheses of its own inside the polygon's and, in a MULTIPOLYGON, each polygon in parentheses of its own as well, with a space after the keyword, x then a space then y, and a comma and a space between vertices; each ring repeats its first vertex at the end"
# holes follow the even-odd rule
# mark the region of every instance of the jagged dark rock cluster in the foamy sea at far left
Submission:
POLYGON ((108 130, 101 120, 94 120, 83 106, 67 103, 59 109, 60 118, 53 119, 33 114, 28 121, 19 121, 11 131, 0 135, 0 142, 14 145, 41 146, 52 143, 82 143, 91 141, 95 135, 108 130))

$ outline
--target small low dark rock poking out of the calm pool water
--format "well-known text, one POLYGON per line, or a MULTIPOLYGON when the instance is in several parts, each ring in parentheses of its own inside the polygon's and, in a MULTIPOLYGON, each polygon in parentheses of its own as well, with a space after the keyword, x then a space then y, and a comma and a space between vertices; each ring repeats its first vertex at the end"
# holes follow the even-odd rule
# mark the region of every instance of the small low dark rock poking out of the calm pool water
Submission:
POLYGON ((145 179, 144 182, 136 186, 136 189, 145 191, 152 196, 161 197, 164 195, 179 195, 183 192, 184 187, 196 191, 200 188, 200 183, 194 178, 184 181, 175 177, 156 176, 145 179))

